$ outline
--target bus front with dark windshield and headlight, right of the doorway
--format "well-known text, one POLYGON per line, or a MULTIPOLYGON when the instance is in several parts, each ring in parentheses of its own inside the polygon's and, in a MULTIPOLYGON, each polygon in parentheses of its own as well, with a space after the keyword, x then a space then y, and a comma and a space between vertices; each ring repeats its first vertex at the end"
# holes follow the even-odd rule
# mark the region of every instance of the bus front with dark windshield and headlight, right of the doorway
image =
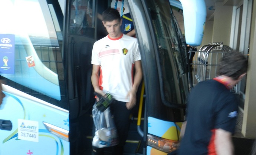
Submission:
MULTIPOLYGON (((178 148, 185 118, 190 82, 186 44, 168 0, 128 2, 140 44, 145 83, 143 154, 166 155, 178 148)), ((203 24, 201 31, 196 32, 200 38, 190 39, 191 44, 200 45, 203 24)), ((191 38, 198 37, 191 34, 191 38)))

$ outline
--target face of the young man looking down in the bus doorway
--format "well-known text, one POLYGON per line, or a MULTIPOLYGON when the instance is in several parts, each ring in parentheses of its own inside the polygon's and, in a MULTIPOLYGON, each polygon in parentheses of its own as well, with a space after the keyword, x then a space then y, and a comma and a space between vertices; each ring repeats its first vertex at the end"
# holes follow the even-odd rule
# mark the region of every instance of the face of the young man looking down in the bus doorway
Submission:
POLYGON ((108 31, 109 37, 110 38, 118 38, 121 36, 122 32, 121 32, 121 21, 119 20, 113 20, 113 21, 102 21, 104 27, 106 28, 106 30, 108 31))

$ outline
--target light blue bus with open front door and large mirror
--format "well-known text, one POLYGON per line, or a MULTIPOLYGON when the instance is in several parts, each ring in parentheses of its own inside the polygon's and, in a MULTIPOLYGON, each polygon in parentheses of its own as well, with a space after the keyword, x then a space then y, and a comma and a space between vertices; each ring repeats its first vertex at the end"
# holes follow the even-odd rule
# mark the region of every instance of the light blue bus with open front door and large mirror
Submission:
MULTIPOLYGON (((91 154, 91 52, 107 35, 98 15, 111 1, 0 1, 0 75, 6 95, 0 106, 0 155, 91 154)), ((187 44, 201 44, 204 0, 127 2, 143 82, 125 154, 171 154, 178 148, 192 85, 187 44), (189 9, 192 5, 201 9, 189 9), (172 6, 183 10, 186 38, 172 6)))

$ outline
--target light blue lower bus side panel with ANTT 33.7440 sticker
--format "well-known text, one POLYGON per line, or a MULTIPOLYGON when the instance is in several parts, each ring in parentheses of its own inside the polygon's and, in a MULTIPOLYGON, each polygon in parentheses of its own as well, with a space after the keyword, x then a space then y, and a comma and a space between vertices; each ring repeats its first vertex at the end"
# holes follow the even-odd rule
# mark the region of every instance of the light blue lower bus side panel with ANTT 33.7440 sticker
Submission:
POLYGON ((69 142, 51 134, 43 124, 69 131, 68 111, 11 87, 4 89, 15 92, 4 92, 6 97, 0 107, 0 119, 12 123, 12 130, 0 130, 0 154, 69 154, 69 142))

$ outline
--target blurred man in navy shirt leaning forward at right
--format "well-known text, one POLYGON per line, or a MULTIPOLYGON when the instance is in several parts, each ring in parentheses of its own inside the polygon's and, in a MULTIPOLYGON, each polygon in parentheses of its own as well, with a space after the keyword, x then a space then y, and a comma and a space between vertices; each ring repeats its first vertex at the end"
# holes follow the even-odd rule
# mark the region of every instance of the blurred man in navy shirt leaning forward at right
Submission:
POLYGON ((238 99, 230 89, 246 72, 246 58, 239 52, 229 52, 221 59, 219 76, 200 82, 191 90, 179 155, 234 154, 232 134, 238 99))

